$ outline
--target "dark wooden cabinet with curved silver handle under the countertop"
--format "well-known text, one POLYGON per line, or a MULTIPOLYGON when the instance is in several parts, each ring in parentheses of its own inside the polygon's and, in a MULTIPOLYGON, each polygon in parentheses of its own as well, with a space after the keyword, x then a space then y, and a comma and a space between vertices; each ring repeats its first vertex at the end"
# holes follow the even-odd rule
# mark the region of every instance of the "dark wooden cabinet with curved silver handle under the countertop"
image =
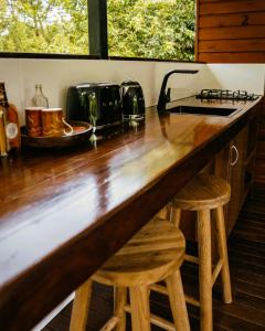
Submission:
MULTIPOLYGON (((248 124, 202 170, 225 179, 231 185, 231 200, 224 209, 227 236, 236 223, 254 180, 258 131, 257 106, 250 111, 248 124)), ((165 210, 160 215, 165 216, 165 210)), ((180 227, 186 238, 190 241, 197 241, 195 217, 194 212, 184 211, 181 215, 180 227)))

